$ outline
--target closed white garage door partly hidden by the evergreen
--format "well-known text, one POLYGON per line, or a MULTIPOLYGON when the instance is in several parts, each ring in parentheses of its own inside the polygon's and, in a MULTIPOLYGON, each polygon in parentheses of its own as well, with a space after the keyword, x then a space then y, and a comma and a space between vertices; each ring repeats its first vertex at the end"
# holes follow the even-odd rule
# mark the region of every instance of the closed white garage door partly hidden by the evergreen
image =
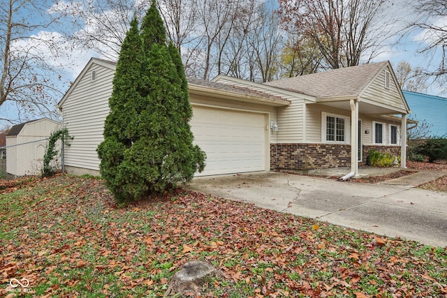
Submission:
POLYGON ((194 143, 207 154, 196 176, 265 170, 265 114, 193 107, 194 143))

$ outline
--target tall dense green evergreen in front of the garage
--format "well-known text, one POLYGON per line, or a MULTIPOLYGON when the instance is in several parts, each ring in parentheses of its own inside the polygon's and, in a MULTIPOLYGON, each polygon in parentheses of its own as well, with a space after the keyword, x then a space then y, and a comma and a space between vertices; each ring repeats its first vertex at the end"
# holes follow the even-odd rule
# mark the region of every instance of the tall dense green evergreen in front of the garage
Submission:
POLYGON ((98 147, 101 175, 118 202, 170 190, 205 167, 205 153, 193 145, 181 59, 166 45, 155 1, 140 32, 134 19, 119 54, 98 147))

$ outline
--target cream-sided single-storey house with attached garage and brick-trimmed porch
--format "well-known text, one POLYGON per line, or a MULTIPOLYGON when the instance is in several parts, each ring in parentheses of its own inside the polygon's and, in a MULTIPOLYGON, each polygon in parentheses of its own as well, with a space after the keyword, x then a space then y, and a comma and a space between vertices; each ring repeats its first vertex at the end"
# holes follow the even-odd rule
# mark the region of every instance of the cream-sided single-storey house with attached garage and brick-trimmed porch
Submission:
MULTIPOLYGON (((74 137, 67 172, 98 174, 115 68, 92 58, 58 104, 74 137)), ((189 79, 189 95, 194 142, 207 154, 200 175, 346 166, 358 174, 372 148, 405 167, 410 111, 388 61, 265 84, 189 79)))

